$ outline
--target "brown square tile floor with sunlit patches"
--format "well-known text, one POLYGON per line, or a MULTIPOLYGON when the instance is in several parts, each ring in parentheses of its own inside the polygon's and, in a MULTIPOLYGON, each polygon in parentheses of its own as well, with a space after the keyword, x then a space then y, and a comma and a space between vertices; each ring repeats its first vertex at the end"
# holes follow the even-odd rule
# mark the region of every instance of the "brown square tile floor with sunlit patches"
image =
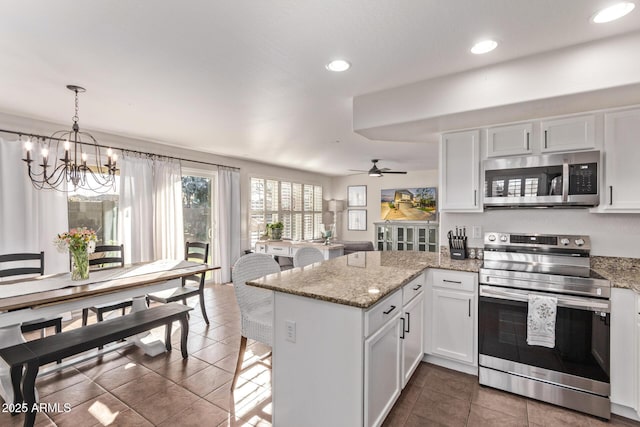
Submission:
MULTIPOLYGON (((196 299, 190 300, 193 304, 196 299)), ((69 412, 39 413, 36 426, 269 426, 269 348, 250 343, 233 394, 230 381, 239 346, 239 311, 233 288, 206 290, 207 328, 192 311, 189 358, 174 351, 155 358, 139 350, 110 353, 50 376, 37 388, 41 402, 71 405, 69 412)), ((93 320, 92 318, 91 320, 93 320)), ((80 326, 74 318, 65 329, 80 326)), ((162 329, 154 331, 163 337, 162 329)), ((0 413, 0 426, 21 426, 23 416, 0 413)), ((385 426, 640 426, 619 417, 606 423, 574 411, 480 387, 477 378, 423 363, 387 417, 385 426)), ((301 426, 304 427, 304 426, 301 426)))

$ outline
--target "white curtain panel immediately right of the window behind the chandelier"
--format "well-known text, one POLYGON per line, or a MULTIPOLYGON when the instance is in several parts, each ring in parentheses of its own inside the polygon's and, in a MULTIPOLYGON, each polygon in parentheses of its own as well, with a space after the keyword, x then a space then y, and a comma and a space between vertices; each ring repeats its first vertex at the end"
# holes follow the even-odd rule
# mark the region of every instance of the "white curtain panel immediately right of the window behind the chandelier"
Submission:
POLYGON ((153 169, 147 158, 123 155, 120 161, 118 240, 125 262, 154 260, 153 169))

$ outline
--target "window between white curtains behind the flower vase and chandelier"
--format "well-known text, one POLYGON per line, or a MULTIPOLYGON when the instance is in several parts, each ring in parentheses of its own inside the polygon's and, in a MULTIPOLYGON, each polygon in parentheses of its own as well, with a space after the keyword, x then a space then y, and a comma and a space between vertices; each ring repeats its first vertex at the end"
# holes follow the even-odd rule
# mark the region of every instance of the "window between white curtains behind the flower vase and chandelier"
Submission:
POLYGON ((118 191, 120 176, 116 176, 116 189, 107 193, 77 189, 69 193, 69 229, 87 227, 96 231, 98 244, 118 244, 118 191))

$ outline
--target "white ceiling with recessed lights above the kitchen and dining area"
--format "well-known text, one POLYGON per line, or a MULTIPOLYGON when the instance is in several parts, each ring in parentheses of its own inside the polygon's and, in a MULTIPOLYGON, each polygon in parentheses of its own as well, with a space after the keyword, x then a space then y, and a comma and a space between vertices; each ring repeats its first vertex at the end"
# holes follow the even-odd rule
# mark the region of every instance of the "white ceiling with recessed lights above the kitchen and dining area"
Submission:
POLYGON ((4 0, 0 111, 344 175, 436 166, 352 131, 352 98, 640 29, 610 0, 4 0), (482 38, 500 42, 484 56, 482 38), (351 70, 330 73, 333 58, 351 70), (339 142, 336 142, 339 141, 339 142))

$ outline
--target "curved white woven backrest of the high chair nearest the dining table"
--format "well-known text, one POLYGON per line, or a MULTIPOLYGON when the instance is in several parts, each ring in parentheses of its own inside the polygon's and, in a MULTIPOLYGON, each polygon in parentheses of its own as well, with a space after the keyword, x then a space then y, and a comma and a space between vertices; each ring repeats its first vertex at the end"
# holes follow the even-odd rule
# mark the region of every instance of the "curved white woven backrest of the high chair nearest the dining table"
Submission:
POLYGON ((269 255, 248 254, 241 256, 236 261, 233 265, 231 277, 242 317, 250 315, 253 307, 260 306, 265 299, 271 298, 270 291, 247 286, 247 281, 279 272, 280 266, 269 255))

